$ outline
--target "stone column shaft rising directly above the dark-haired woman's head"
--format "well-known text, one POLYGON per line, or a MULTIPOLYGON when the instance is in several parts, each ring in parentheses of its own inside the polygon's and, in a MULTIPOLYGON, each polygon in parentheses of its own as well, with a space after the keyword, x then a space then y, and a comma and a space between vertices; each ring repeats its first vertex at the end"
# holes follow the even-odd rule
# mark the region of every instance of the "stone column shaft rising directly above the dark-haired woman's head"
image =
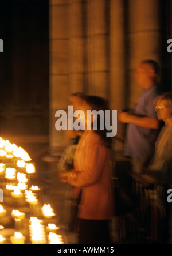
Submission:
POLYGON ((107 1, 87 0, 87 79, 89 94, 107 97, 107 1))

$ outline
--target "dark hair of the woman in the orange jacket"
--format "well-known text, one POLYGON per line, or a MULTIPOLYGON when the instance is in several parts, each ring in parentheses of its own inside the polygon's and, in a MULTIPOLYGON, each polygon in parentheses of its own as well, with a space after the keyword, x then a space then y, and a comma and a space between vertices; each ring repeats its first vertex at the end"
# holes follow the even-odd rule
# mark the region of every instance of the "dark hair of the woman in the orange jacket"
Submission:
POLYGON ((95 133, 100 136, 105 146, 111 148, 112 138, 107 137, 107 129, 105 127, 105 110, 110 110, 108 100, 99 96, 89 95, 85 97, 85 102, 91 107, 91 110, 104 111, 104 130, 100 130, 100 115, 97 115, 97 119, 94 121, 97 122, 97 130, 95 130, 95 133))

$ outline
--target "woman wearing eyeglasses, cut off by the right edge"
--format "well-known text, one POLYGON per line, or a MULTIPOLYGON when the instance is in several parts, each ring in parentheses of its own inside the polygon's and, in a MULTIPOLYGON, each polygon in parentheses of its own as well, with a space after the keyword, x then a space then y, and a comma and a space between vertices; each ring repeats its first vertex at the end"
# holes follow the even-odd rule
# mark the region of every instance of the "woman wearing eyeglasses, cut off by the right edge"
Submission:
POLYGON ((158 119, 165 122, 155 142, 154 157, 142 175, 154 185, 154 209, 157 223, 157 244, 172 243, 172 208, 167 191, 172 185, 172 92, 158 96, 155 101, 158 119), (156 208, 155 208, 156 207, 156 208))

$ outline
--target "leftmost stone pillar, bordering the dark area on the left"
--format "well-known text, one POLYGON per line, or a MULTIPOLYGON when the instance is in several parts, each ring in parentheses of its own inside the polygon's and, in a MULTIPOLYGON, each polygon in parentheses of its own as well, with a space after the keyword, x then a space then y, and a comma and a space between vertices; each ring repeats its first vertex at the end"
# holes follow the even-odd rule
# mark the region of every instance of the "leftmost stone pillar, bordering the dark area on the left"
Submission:
POLYGON ((55 113, 67 110, 69 97, 69 1, 49 1, 49 145, 50 156, 61 155, 65 131, 55 129, 55 113))

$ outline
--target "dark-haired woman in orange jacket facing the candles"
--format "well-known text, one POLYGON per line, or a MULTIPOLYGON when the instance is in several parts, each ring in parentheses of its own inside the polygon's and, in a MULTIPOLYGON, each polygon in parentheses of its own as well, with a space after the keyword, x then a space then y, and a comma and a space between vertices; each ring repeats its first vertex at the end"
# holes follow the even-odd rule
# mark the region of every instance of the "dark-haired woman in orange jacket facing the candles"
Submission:
MULTIPOLYGON (((83 110, 107 110, 107 101, 87 96, 83 110)), ((82 189, 78 217, 80 219, 79 244, 110 244, 108 222, 113 216, 111 180, 111 138, 100 130, 85 130, 76 149, 74 170, 62 174, 62 182, 82 189)), ((94 122, 95 122, 94 121, 94 122)), ((104 122, 105 123, 105 122, 104 122)), ((85 125, 88 125, 85 120, 85 125)), ((88 126, 87 126, 88 127, 88 126)))

